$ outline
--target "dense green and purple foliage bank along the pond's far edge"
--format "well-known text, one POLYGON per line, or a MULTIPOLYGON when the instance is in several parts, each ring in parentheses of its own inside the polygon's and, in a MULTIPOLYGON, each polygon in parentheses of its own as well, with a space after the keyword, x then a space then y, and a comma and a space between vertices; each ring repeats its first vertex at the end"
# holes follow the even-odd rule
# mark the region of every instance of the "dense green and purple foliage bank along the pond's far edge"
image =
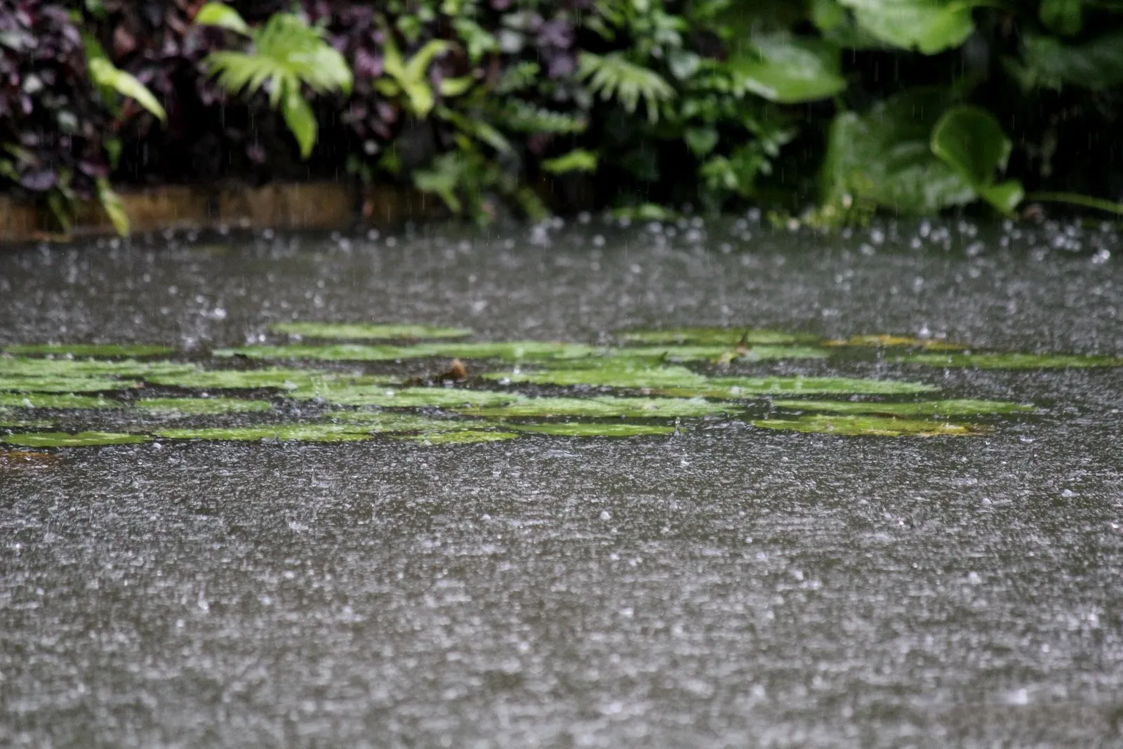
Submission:
POLYGON ((1123 0, 0 0, 0 191, 396 182, 478 222, 1119 210, 1123 0))

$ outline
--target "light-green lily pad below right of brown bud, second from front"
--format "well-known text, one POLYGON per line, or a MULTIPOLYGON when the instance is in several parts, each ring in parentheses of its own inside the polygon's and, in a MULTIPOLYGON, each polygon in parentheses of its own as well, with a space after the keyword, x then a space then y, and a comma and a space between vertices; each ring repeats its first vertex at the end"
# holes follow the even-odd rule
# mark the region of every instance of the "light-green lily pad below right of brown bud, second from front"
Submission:
POLYGON ((732 403, 682 398, 528 398, 501 407, 456 409, 471 415, 500 418, 676 418, 709 417, 740 411, 732 403))

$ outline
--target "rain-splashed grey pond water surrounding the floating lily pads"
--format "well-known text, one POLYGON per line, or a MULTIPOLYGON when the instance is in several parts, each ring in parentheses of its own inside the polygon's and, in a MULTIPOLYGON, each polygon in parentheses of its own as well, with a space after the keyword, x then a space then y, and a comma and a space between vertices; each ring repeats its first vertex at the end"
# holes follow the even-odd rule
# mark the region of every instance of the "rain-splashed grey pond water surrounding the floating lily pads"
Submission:
MULTIPOLYGON (((202 356, 300 319, 1123 354, 1121 256, 956 221, 175 236, 0 252, 0 344, 202 356)), ((0 467, 0 746, 1123 746, 1123 369, 758 371, 1042 411, 960 439, 715 422, 0 467)))

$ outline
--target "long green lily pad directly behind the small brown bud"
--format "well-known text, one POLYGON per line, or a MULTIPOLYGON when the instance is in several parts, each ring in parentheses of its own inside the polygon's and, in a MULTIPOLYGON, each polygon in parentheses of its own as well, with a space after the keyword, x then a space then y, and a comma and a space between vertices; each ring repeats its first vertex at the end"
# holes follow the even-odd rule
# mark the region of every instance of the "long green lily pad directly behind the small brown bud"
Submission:
POLYGON ((331 344, 314 346, 290 344, 285 346, 243 346, 222 348, 214 356, 245 356, 253 359, 304 359, 320 362, 398 362, 428 357, 458 359, 503 359, 506 362, 539 362, 553 358, 591 356, 596 351, 584 344, 524 340, 478 344, 416 344, 413 346, 366 346, 362 344, 331 344))

